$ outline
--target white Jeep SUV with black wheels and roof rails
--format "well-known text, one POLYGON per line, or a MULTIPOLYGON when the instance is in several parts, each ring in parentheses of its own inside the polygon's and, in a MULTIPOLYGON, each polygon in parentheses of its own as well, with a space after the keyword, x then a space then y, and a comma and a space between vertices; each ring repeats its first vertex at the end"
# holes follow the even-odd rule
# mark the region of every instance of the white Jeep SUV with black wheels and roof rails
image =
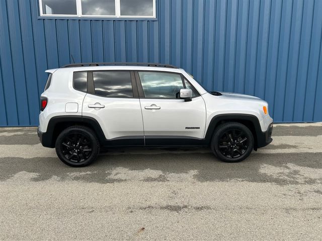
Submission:
POLYGON ((239 162, 271 143, 266 101, 207 91, 186 71, 150 63, 86 63, 50 69, 38 136, 73 167, 101 147, 210 146, 239 162))

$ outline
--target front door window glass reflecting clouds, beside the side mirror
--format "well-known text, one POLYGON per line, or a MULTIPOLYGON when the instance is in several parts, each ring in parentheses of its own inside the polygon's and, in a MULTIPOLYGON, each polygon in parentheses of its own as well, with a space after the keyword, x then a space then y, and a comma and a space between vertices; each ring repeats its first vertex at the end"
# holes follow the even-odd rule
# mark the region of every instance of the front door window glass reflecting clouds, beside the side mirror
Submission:
POLYGON ((183 89, 180 74, 138 72, 145 98, 176 99, 180 97, 180 89, 183 89))

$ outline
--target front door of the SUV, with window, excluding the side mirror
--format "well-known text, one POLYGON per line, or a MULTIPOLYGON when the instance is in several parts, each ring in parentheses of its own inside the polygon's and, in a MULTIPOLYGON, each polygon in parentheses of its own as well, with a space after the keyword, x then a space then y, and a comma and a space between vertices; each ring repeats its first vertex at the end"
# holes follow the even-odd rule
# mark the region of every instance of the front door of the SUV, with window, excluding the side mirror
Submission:
POLYGON ((189 145, 203 139, 205 102, 181 74, 138 71, 136 79, 143 95, 145 145, 189 145), (191 101, 179 98, 182 88, 192 88, 191 101))

